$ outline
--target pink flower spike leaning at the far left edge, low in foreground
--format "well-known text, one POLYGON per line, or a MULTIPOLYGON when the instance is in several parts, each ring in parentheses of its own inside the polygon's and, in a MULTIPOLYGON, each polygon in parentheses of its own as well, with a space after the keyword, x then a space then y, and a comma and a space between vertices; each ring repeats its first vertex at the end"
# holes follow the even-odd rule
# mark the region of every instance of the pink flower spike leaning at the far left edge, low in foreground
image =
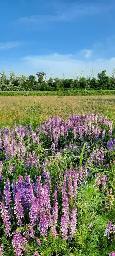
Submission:
POLYGON ((1 206, 0 206, 0 209, 1 209, 1 217, 3 219, 3 222, 4 222, 4 225, 5 225, 5 233, 7 236, 11 237, 11 234, 10 234, 10 217, 9 217, 9 212, 7 210, 7 208, 5 207, 4 203, 3 202, 0 202, 1 203, 1 206))

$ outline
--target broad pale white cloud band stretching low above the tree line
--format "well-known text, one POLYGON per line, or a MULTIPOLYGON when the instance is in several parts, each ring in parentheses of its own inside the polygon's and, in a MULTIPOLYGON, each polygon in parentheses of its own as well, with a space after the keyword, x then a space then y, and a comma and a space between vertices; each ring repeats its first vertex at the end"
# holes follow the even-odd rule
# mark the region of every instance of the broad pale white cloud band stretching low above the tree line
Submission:
POLYGON ((90 70, 93 69, 94 76, 98 71, 107 69, 107 74, 111 75, 112 70, 115 67, 115 57, 110 59, 96 59, 94 61, 89 61, 88 58, 80 60, 77 55, 38 55, 38 56, 26 56, 22 59, 18 59, 14 63, 7 61, 0 62, 0 70, 4 70, 7 75, 8 71, 13 70, 16 75, 25 74, 29 76, 30 74, 35 75, 38 71, 47 72, 48 78, 52 77, 76 77, 76 71, 81 74, 83 70, 83 76, 87 77, 90 70))

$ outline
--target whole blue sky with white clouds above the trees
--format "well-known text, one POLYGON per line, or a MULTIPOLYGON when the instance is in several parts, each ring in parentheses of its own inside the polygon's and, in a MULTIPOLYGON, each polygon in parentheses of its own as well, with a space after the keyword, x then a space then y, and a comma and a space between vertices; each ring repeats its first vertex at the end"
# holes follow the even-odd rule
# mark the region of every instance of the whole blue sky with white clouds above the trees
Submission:
POLYGON ((87 76, 115 67, 114 0, 1 0, 0 70, 87 76))

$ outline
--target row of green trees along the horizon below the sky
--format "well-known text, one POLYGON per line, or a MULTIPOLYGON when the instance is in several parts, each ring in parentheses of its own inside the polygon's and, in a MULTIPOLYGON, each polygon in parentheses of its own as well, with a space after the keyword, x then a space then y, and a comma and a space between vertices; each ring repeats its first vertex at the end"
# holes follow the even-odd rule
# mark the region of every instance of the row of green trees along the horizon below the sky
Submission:
MULTIPOLYGON (((88 90, 115 90, 115 70, 111 76, 106 75, 106 70, 97 73, 97 79, 93 72, 89 77, 76 75, 76 78, 64 79, 65 90, 88 89, 88 90)), ((47 74, 37 72, 36 76, 17 76, 10 70, 9 78, 4 71, 0 73, 0 91, 58 91, 63 90, 63 79, 50 77, 47 74)))

